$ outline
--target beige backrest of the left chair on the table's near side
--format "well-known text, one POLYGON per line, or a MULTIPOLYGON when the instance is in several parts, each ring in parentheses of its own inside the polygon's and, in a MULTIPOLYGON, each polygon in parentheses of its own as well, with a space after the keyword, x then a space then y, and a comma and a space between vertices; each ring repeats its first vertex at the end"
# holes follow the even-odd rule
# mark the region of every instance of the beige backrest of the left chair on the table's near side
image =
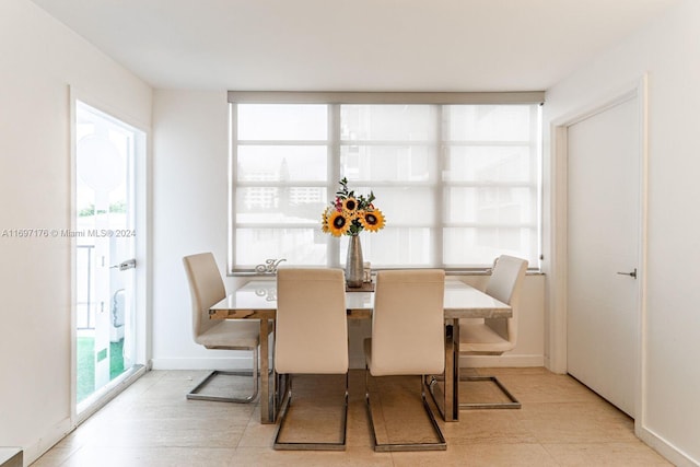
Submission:
POLYGON ((348 316, 342 269, 278 269, 275 334, 278 373, 347 373, 348 316))

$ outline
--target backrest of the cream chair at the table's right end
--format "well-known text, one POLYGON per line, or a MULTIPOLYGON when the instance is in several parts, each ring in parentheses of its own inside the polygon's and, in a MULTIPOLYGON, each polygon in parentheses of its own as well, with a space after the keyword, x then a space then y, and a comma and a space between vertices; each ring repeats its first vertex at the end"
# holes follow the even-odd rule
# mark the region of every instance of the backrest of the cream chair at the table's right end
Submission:
POLYGON ((520 311, 521 289, 527 271, 527 260, 513 256, 501 255, 495 260, 486 293, 503 303, 511 305, 511 318, 485 319, 485 324, 493 329, 501 338, 513 346, 517 342, 517 315, 520 311))

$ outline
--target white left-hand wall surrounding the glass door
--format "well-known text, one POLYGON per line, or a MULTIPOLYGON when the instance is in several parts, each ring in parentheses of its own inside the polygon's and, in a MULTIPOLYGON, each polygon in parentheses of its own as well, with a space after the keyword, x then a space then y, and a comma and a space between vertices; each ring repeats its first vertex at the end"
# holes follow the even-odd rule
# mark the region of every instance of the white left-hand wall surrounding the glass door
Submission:
POLYGON ((32 460, 71 428, 69 85, 150 126, 151 90, 27 0, 0 1, 0 445, 32 460))

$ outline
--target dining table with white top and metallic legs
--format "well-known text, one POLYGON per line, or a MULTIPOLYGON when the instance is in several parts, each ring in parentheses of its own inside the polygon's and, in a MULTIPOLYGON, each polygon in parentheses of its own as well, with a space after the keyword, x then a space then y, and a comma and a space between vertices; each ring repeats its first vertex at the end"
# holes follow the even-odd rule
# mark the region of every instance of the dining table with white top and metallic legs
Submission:
MULTIPOLYGON (((348 319, 371 319, 374 307, 374 284, 346 289, 348 319)), ((459 420, 459 319, 506 318, 510 305, 500 302, 456 277, 445 279, 445 371, 444 384, 431 385, 431 393, 445 421, 459 420)), ((277 313, 277 281, 275 278, 254 279, 236 289, 209 308, 210 319, 258 319, 260 323, 260 422, 275 423, 278 400, 270 390, 270 350, 273 349, 277 313), (262 338, 270 335, 271 338, 262 338)))

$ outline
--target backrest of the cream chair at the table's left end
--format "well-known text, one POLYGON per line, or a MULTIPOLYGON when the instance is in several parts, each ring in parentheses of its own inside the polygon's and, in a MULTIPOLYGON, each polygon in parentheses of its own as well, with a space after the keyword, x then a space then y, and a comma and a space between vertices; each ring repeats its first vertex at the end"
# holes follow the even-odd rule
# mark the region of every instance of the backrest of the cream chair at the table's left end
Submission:
POLYGON ((192 304, 192 336, 197 343, 201 343, 199 336, 218 324, 209 319, 209 308, 226 297, 226 289, 211 253, 185 256, 183 264, 192 304))

